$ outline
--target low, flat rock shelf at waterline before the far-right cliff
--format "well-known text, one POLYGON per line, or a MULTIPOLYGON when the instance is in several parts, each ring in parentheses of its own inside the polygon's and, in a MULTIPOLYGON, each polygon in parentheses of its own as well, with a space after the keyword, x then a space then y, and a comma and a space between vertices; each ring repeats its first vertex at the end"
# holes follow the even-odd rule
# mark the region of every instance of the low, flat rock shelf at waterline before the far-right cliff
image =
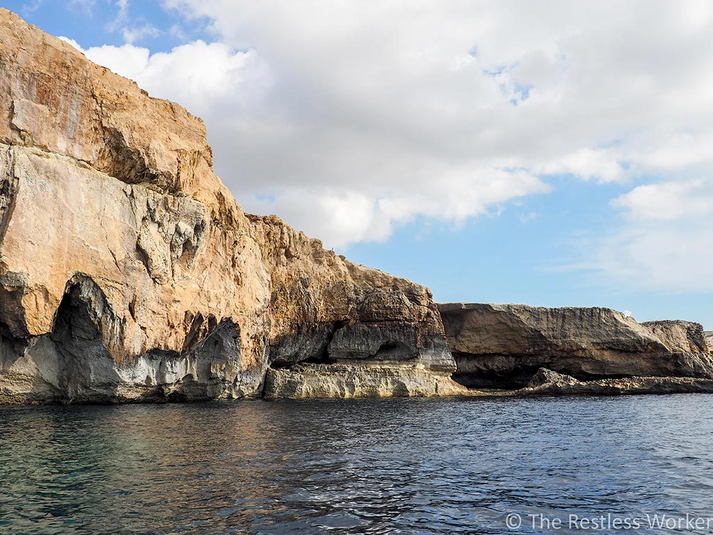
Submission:
POLYGON ((521 396, 533 395, 600 395, 623 394, 695 394, 712 393, 713 379, 694 377, 622 377, 578 381, 569 375, 540 368, 527 387, 515 392, 521 396))

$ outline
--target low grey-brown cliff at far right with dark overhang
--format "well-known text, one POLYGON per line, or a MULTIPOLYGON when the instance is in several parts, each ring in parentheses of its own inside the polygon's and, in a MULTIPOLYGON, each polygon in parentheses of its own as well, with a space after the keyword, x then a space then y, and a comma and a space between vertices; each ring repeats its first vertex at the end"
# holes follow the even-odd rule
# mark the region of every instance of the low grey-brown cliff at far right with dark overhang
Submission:
POLYGON ((540 367, 575 379, 713 377, 702 327, 637 323, 605 308, 439 305, 458 370, 469 387, 523 387, 540 367))

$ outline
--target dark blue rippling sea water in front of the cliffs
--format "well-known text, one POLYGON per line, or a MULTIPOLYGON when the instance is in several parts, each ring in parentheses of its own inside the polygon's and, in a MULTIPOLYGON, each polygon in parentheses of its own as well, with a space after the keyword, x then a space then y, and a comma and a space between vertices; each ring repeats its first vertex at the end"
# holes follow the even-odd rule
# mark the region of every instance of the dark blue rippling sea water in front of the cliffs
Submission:
POLYGON ((527 515, 708 517, 712 431, 705 395, 0 407, 0 533, 502 534, 511 513, 518 533, 583 533, 527 515))

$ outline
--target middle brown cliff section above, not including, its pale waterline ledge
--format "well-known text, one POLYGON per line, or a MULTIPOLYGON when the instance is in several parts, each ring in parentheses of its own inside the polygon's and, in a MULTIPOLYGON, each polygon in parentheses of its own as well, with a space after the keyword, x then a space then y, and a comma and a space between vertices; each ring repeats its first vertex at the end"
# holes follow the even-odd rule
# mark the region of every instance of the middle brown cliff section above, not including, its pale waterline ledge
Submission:
POLYGON ((347 262, 275 216, 248 217, 272 280, 270 365, 375 360, 455 370, 429 290, 347 262))

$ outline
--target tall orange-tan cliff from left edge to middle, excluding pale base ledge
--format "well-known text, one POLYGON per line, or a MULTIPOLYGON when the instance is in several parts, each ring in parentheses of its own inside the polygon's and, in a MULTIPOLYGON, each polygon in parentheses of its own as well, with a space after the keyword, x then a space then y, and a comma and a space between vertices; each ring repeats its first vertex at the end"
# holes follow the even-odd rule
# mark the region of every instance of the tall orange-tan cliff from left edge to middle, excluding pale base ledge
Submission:
POLYGON ((0 402, 250 397, 302 361, 455 369, 428 290, 245 215, 200 119, 4 9, 0 37, 0 402))

